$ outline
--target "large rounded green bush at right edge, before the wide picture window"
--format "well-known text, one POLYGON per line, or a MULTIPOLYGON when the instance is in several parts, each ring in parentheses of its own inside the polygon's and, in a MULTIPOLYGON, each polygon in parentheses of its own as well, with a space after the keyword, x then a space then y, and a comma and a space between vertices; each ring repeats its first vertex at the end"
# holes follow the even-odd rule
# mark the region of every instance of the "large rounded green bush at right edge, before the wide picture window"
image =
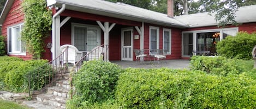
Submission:
POLYGON ((221 56, 237 59, 252 59, 252 49, 256 45, 256 33, 239 33, 228 36, 218 42, 217 53, 221 56))

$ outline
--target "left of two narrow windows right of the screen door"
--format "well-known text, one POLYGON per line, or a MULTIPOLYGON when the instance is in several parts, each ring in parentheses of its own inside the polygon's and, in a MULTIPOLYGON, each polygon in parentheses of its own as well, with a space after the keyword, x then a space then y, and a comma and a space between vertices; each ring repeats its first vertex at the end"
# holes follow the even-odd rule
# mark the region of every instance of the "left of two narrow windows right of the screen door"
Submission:
POLYGON ((150 27, 150 49, 159 49, 159 28, 150 27))

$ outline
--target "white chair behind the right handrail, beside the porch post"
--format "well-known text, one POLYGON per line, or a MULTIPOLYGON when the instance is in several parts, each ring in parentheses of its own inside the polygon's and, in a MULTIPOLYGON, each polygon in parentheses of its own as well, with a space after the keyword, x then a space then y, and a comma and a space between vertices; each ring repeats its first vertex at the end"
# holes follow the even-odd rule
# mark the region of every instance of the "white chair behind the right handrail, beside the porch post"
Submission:
POLYGON ((103 47, 94 47, 91 52, 87 53, 87 60, 99 60, 103 59, 104 48, 103 47))

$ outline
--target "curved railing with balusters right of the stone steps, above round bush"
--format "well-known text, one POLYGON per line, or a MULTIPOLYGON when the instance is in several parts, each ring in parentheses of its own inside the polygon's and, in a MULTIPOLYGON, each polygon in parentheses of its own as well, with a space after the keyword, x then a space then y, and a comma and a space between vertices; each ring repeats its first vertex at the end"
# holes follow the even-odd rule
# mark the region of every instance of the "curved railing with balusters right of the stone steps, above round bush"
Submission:
MULTIPOLYGON (((72 73, 70 73, 70 87, 72 87, 72 93, 70 93, 70 98, 72 99, 72 96, 75 92, 75 89, 73 87, 72 78, 73 75, 78 72, 78 70, 81 68, 81 66, 84 64, 85 61, 90 60, 104 60, 104 56, 108 55, 106 54, 106 51, 108 50, 109 46, 106 44, 102 44, 101 46, 98 46, 94 49, 92 49, 91 52, 88 52, 82 58, 75 63, 74 67, 72 68, 72 73)), ((106 60, 104 60, 106 61, 106 60)))

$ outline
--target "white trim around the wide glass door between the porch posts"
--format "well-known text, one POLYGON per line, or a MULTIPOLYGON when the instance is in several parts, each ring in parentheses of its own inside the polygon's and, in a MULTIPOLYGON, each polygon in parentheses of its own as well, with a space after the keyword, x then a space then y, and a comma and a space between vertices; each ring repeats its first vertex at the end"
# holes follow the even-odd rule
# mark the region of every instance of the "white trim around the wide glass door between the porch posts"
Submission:
POLYGON ((97 25, 90 25, 90 24, 81 24, 81 23, 71 23, 71 44, 75 46, 75 27, 84 27, 84 28, 95 28, 97 29, 97 46, 102 44, 102 31, 99 26, 97 25))

